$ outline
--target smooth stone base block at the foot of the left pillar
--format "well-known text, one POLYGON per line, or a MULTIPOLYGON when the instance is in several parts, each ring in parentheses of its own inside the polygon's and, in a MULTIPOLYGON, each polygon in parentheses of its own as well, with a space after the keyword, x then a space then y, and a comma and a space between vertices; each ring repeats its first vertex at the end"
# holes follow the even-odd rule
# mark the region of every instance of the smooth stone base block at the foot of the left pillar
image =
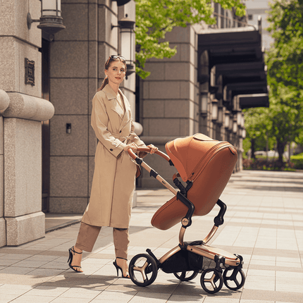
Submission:
POLYGON ((5 220, 7 246, 18 246, 45 236, 45 215, 42 211, 5 220))

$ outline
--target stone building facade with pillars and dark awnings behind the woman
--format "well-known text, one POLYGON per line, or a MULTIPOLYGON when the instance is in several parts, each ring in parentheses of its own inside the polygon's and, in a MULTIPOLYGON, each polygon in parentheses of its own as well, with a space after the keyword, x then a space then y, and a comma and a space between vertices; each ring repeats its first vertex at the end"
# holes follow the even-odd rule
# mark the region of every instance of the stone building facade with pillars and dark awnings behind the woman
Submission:
MULTIPOLYGON (((66 28, 50 34, 39 23, 27 26, 28 13, 40 18, 43 1, 0 0, 0 247, 44 237, 47 212, 85 210, 97 144, 92 97, 106 59, 124 55, 118 21, 135 20, 134 0, 56 0, 66 28)), ((230 141, 241 155, 237 113, 266 106, 260 27, 249 29, 245 19, 213 5, 216 26, 173 29, 166 39, 178 53, 150 60, 149 78, 132 73, 121 87, 137 131, 143 126, 142 140, 161 150, 203 132, 230 141)), ((175 168, 156 156, 147 162, 171 182, 175 168)), ((137 180, 137 187, 159 186, 145 172, 137 180)))

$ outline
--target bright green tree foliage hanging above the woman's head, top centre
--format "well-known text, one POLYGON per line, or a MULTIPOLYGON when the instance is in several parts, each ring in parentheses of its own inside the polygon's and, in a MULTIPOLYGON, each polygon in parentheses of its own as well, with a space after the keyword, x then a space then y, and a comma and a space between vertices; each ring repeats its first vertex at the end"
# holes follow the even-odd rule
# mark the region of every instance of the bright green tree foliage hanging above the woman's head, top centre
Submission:
MULTIPOLYGON (((135 0, 136 1, 136 73, 141 78, 150 74, 144 70, 149 58, 171 58, 177 52, 163 41, 173 27, 200 23, 216 23, 212 17, 210 0, 135 0)), ((233 9, 238 16, 245 15, 242 0, 214 0, 225 9, 233 9)))

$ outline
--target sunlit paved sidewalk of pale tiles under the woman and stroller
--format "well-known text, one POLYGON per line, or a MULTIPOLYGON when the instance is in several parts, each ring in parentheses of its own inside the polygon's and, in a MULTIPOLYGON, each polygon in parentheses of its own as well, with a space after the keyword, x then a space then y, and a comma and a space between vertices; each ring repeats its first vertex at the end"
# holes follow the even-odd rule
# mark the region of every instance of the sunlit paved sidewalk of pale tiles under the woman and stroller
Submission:
MULTIPOLYGON (((166 189, 137 194, 129 259, 147 248, 160 257, 178 245, 180 225, 157 230, 150 219, 172 194, 166 189)), ((180 282, 159 271, 148 287, 116 278, 111 228, 102 228, 94 251, 84 254, 84 273, 74 273, 66 261, 77 223, 26 245, 0 249, 0 303, 302 303, 303 173, 242 171, 232 176, 221 199, 228 210, 211 245, 244 257, 247 280, 239 291, 223 286, 209 295, 200 275, 180 282)), ((194 217, 185 240, 203 240, 217 212, 216 206, 207 216, 194 217)))

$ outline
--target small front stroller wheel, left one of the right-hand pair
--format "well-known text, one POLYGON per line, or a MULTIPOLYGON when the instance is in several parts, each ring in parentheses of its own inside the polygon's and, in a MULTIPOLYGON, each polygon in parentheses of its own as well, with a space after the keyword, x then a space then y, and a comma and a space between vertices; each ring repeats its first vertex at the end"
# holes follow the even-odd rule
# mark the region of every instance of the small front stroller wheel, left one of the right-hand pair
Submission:
POLYGON ((201 286, 209 294, 215 294, 223 286, 223 277, 215 268, 208 268, 202 272, 201 286))

